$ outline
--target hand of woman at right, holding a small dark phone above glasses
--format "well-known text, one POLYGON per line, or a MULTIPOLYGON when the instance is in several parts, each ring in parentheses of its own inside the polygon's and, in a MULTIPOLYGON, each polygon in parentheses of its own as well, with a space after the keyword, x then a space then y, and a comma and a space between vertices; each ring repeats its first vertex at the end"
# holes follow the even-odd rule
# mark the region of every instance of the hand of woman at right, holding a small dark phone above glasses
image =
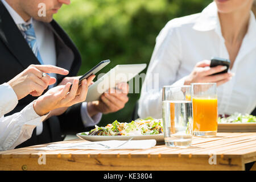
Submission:
POLYGON ((210 68, 210 61, 204 60, 196 64, 193 71, 185 78, 184 85, 190 85, 196 82, 216 82, 217 86, 224 84, 231 80, 233 73, 221 73, 218 75, 212 75, 224 71, 226 66, 218 65, 217 67, 210 68))

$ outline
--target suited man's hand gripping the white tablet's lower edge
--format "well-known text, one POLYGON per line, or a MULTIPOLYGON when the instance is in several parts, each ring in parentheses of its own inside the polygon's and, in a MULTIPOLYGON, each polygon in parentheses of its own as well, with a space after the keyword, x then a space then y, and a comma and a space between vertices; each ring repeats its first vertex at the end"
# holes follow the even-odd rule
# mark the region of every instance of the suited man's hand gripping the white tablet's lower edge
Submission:
POLYGON ((102 94, 100 101, 88 102, 87 110, 90 117, 97 113, 107 114, 122 109, 129 100, 128 92, 129 85, 122 82, 116 86, 116 89, 109 89, 108 92, 102 94))

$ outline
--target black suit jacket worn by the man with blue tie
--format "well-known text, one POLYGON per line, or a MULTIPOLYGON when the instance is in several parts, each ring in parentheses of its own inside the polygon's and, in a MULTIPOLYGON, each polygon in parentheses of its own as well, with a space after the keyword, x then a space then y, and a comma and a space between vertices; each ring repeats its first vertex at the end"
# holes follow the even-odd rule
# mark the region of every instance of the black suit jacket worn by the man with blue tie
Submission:
MULTIPOLYGON (((79 51, 55 20, 45 24, 52 29, 55 37, 57 66, 68 69, 68 76, 76 76, 81 65, 79 51)), ((13 18, 11 18, 9 12, 0 1, 0 84, 11 80, 30 64, 40 63, 16 27, 13 18)), ((57 83, 63 78, 64 76, 58 75, 57 83)), ((19 104, 7 115, 22 110, 35 99, 36 97, 28 95, 19 100, 19 104)), ((51 117, 44 121, 43 133, 36 136, 36 130, 34 130, 31 139, 28 139, 18 147, 56 142, 63 139, 65 134, 84 131, 80 107, 81 104, 76 104, 69 107, 63 115, 51 117)))

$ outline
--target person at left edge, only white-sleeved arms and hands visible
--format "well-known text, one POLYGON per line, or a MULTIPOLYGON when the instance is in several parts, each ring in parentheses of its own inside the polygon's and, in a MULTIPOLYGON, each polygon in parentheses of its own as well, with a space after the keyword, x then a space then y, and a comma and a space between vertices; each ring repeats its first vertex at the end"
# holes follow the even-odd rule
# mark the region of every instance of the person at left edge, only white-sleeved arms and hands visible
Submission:
POLYGON ((0 85, 0 151, 13 149, 29 139, 34 128, 47 118, 51 110, 84 101, 88 85, 94 78, 90 76, 88 81, 82 81, 81 87, 79 80, 75 79, 70 91, 71 82, 68 82, 40 96, 48 85, 56 82, 46 73, 67 75, 68 71, 52 65, 30 65, 12 80, 0 85), (19 113, 3 117, 14 109, 18 100, 28 94, 40 97, 19 113))

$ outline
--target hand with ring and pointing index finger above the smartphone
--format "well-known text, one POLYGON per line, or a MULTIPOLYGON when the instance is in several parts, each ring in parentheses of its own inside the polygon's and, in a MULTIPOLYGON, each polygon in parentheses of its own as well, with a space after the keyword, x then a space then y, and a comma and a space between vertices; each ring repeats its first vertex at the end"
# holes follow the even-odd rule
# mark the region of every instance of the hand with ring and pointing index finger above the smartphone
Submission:
POLYGON ((68 75, 66 69, 53 65, 30 65, 8 82, 16 93, 18 100, 26 97, 28 94, 40 96, 44 90, 47 89, 48 85, 52 85, 56 82, 55 78, 47 74, 43 76, 43 73, 68 75))

